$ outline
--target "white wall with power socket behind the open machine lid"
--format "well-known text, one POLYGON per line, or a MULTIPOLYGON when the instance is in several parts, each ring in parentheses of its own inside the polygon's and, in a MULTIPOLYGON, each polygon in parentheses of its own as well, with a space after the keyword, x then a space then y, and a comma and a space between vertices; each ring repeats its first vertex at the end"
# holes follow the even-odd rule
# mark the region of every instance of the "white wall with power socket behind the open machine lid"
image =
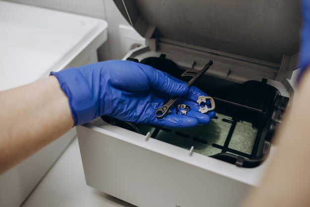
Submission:
MULTIPOLYGON (((119 33, 119 25, 131 27, 125 18, 121 15, 113 0, 8 0, 23 4, 51 8, 60 11, 66 11, 95 18, 101 18, 108 22, 108 40, 98 50, 100 61, 111 59, 122 59, 126 54, 122 38, 119 33)), ((124 27, 122 27, 124 28, 124 27)), ((129 31, 131 37, 137 42, 143 41, 143 38, 133 29, 129 31)))

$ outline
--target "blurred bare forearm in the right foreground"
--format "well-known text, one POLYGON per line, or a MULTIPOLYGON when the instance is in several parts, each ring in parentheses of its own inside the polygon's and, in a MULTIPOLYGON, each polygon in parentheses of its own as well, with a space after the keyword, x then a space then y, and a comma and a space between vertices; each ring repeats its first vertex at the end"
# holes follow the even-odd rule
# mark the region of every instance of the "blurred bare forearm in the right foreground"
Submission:
POLYGON ((278 149, 259 189, 244 207, 306 207, 310 204, 310 69, 291 112, 276 135, 278 149))

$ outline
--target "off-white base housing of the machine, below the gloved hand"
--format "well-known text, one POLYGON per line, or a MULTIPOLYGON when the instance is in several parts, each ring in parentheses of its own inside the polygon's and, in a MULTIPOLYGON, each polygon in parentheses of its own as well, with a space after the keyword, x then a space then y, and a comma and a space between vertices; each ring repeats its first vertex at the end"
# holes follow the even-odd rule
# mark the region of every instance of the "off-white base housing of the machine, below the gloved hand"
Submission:
MULTIPOLYGON (((161 52, 173 57, 145 46, 124 59, 158 57, 161 52)), ((278 89, 290 96, 282 83, 278 89)), ((272 146, 267 160, 256 168, 240 168, 101 118, 76 129, 87 184, 139 207, 238 207, 251 187, 258 186, 275 151, 272 146)))

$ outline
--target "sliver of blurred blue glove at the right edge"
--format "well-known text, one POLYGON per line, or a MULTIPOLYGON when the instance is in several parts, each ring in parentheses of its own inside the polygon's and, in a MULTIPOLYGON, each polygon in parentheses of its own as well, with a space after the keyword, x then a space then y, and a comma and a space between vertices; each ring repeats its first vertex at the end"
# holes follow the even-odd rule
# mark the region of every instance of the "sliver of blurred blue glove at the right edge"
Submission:
POLYGON ((298 80, 310 66, 310 0, 302 0, 302 17, 303 27, 301 31, 301 45, 299 54, 299 64, 301 71, 298 76, 298 80))

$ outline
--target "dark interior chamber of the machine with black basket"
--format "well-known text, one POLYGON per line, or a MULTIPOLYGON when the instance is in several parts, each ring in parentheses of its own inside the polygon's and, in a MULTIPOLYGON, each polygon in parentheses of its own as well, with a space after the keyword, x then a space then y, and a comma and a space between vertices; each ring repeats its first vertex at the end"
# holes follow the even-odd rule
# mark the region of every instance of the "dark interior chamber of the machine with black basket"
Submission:
MULTIPOLYGON (((183 79, 184 69, 165 55, 146 58, 141 63, 183 79)), ((197 153, 239 167, 258 166, 269 152, 271 138, 289 98, 281 96, 265 79, 236 83, 204 75, 194 85, 214 98, 216 117, 208 125, 179 129, 134 125, 110 117, 103 117, 103 120, 143 135, 150 132, 152 138, 185 149, 194 146, 197 153)))

